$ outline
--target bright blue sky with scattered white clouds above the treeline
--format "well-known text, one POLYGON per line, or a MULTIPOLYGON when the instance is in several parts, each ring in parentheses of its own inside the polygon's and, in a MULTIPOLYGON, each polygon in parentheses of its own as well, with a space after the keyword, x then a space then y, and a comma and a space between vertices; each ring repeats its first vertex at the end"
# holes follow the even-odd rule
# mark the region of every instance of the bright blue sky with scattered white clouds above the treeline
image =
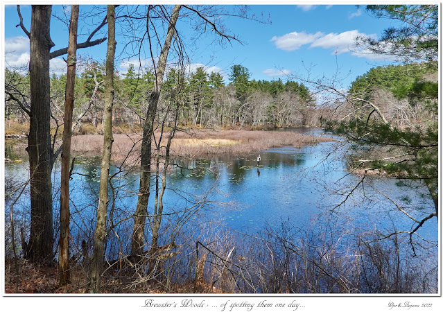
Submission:
MULTIPOLYGON (((91 6, 80 5, 81 12, 89 12, 91 6)), ((232 7, 227 7, 228 10, 232 7)), ((69 6, 53 6, 53 14, 61 19, 69 18, 69 6)), ((184 10, 184 9, 182 9, 184 10)), ((19 23, 16 6, 5 6, 5 66, 17 67, 26 64, 29 55, 29 42, 19 23)), ((105 7, 103 7, 105 12, 105 7)), ((183 12, 183 11, 182 11, 183 12)), ((31 22, 31 6, 21 6, 21 14, 28 30, 31 22)), ((354 46, 356 35, 381 37, 383 29, 392 25, 388 19, 376 19, 365 12, 365 6, 355 5, 250 5, 248 14, 255 15, 266 21, 261 23, 248 19, 229 17, 223 24, 229 33, 236 35, 243 44, 232 42, 220 46, 213 43, 214 35, 210 31, 198 40, 193 40, 196 33, 189 22, 177 24, 180 35, 184 38, 186 51, 189 55, 190 68, 203 66, 207 71, 219 71, 227 78, 229 68, 241 64, 252 73, 256 80, 286 80, 294 76, 310 78, 331 78, 338 71, 342 79, 339 87, 348 87, 356 76, 362 75, 372 67, 392 64, 392 60, 383 59, 380 55, 359 53, 354 46), (263 16, 263 17, 262 17, 263 16)), ((98 15, 94 23, 103 19, 98 15)), ((89 19, 92 23, 92 19, 89 19)), ((94 26, 80 24, 82 42, 94 26)), ((103 28, 94 39, 106 36, 103 28)), ((117 33, 125 33, 125 29, 117 29, 117 33)), ((118 35, 119 36, 119 35, 118 35)), ((55 49, 67 46, 67 25, 59 19, 51 21, 51 38, 55 49)), ((139 58, 121 54, 124 44, 122 37, 117 37, 116 66, 125 73, 132 62, 138 67, 139 58)), ((145 43, 146 47, 146 43, 145 43)), ((88 49, 78 50, 84 58, 103 60, 106 44, 88 49)), ((173 60, 174 56, 171 56, 173 60)), ((149 64, 149 55, 141 55, 142 66, 149 64)), ((51 60, 54 73, 64 73, 65 65, 62 58, 51 60)), ((228 80, 225 80, 227 83, 228 80)))

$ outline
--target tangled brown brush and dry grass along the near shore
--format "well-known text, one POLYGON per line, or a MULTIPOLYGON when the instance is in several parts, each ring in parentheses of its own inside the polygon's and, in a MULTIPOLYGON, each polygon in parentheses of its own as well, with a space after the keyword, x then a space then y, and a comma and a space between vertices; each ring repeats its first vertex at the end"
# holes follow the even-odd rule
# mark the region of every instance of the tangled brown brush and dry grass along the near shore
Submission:
MULTIPOLYGON (((377 240, 373 233, 313 225, 297 229, 289 222, 259 232, 239 233, 198 216, 177 231, 178 214, 168 217, 160 238, 163 248, 134 263, 128 257, 131 221, 107 241, 104 293, 437 293, 436 248, 420 246, 410 257, 401 235, 377 240), (126 237, 126 239, 124 239, 126 237), (173 243, 171 243, 173 241, 173 243), (155 270, 147 270, 155 261, 155 270)), ((57 288, 57 274, 21 263, 26 280, 19 292, 87 291, 87 259, 80 241, 72 244, 73 284, 57 288), (31 275, 35 275, 32 277, 31 275), (44 275, 44 277, 42 277, 44 275), (44 288, 36 284, 45 279, 44 288)), ((147 241, 149 234, 147 233, 147 241)), ((89 239, 91 239, 89 237, 89 239)), ((7 249, 9 247, 6 247, 7 249)), ((146 249, 149 244, 146 245, 146 249)), ((8 257, 10 252, 6 252, 8 257)), ((9 256, 10 257, 10 256, 9 256)), ((13 269, 6 259, 6 289, 13 292, 13 269)), ((49 270, 49 269, 48 269, 49 270)))

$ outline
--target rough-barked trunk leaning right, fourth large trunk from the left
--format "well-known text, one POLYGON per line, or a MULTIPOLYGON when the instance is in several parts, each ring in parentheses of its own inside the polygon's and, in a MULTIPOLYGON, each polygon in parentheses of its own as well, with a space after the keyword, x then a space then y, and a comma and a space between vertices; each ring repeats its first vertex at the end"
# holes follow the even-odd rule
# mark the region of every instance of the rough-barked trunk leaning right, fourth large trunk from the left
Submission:
POLYGON ((132 230, 131 255, 137 257, 142 254, 144 248, 145 221, 148 215, 148 200, 150 189, 150 159, 152 155, 152 140, 154 132, 155 114, 157 104, 163 85, 163 76, 166 69, 166 60, 168 59, 169 49, 175 33, 175 24, 177 23, 180 5, 175 5, 169 21, 168 33, 164 41, 162 52, 160 53, 155 71, 155 85, 150 94, 148 112, 143 127, 143 137, 141 141, 141 168, 140 168, 140 188, 139 198, 134 216, 134 228, 132 230))

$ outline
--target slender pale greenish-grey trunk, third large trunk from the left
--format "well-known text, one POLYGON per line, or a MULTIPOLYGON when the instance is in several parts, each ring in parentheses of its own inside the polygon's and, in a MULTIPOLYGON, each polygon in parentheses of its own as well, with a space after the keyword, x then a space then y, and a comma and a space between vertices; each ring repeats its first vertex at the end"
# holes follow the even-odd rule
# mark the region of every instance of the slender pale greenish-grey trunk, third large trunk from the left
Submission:
POLYGON ((115 56, 115 6, 107 6, 107 53, 105 78, 105 110, 103 112, 103 157, 100 171, 100 193, 98 195, 97 223, 94 235, 94 255, 91 266, 91 292, 100 291, 105 252, 107 187, 111 162, 112 142, 112 104, 114 102, 114 56, 115 56))

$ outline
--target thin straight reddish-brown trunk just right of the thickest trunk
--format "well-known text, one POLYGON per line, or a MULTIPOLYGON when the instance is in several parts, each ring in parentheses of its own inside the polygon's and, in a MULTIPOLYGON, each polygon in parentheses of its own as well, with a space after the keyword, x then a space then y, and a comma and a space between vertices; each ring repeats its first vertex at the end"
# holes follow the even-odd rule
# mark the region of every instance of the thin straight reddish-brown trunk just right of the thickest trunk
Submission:
POLYGON ((68 70, 64 96, 62 177, 60 190, 60 250, 58 252, 60 286, 71 282, 69 272, 69 160, 71 158, 71 128, 73 114, 74 84, 76 82, 76 51, 78 6, 71 8, 69 24, 68 70))

